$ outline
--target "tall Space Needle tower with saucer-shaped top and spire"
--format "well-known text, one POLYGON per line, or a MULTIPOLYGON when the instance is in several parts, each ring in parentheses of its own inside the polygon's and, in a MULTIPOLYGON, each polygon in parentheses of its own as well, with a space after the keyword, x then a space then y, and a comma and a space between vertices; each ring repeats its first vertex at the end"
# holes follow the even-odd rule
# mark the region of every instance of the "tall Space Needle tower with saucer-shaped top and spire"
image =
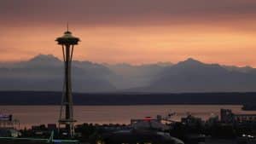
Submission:
POLYGON ((63 94, 61 100, 61 112, 59 118, 59 128, 61 124, 66 126, 66 131, 69 136, 74 136, 74 123, 76 120, 73 119, 73 97, 72 97, 72 84, 71 84, 71 64, 73 59, 73 48, 74 45, 79 44, 79 37, 73 37, 72 32, 64 32, 62 37, 57 37, 58 44, 62 46, 63 61, 65 66, 63 94), (64 109, 65 108, 65 109, 64 109), (65 112, 65 116, 62 112, 65 112))

